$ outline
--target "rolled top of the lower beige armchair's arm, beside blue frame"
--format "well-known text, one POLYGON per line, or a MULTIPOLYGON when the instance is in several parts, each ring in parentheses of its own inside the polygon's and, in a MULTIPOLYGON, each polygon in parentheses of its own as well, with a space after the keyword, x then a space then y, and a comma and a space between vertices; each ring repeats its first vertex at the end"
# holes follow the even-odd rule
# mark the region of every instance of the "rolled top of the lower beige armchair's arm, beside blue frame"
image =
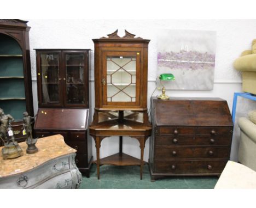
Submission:
POLYGON ((245 117, 241 117, 238 119, 238 126, 240 127, 241 131, 243 131, 249 138, 256 143, 256 125, 252 123, 249 119, 245 117))

